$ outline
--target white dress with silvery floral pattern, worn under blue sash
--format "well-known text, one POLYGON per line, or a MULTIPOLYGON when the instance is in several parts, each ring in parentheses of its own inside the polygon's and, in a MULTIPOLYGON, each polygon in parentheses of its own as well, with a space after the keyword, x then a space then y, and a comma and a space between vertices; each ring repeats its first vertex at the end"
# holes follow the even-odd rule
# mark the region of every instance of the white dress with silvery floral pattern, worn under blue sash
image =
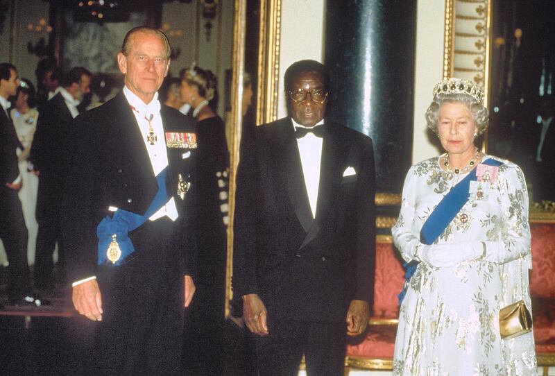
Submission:
MULTIPOLYGON (((484 241, 486 256, 454 267, 420 262, 400 307, 393 375, 536 375, 533 334, 499 335, 499 309, 524 299, 531 309, 528 194, 520 168, 506 160, 436 240, 484 241)), ((439 157, 412 166, 404 182, 393 241, 411 261, 420 228, 466 175, 441 169, 439 157)), ((472 186, 470 187, 472 192, 472 186)))

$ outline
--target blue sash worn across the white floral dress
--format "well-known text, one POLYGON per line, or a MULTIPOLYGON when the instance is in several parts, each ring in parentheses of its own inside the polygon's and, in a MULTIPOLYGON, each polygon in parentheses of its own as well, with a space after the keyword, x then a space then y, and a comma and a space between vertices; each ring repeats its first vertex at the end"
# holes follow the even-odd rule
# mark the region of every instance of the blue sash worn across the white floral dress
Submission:
MULTIPOLYGON (((488 158, 487 160, 482 161, 481 164, 499 167, 503 163, 488 158)), ((436 239, 443 234, 443 231, 445 231, 456 214, 461 211, 463 206, 468 202, 468 198, 470 198, 470 182, 476 181, 476 171, 477 168, 472 169, 466 178, 452 187, 452 189, 445 196, 443 196, 440 203, 436 206, 436 209, 434 209, 434 212, 429 215, 428 219, 420 229, 420 243, 427 245, 433 244, 434 241, 436 241, 436 239)), ((416 271, 418 261, 412 260, 411 262, 405 262, 403 266, 405 268, 404 287, 397 296, 399 304, 403 301, 404 294, 407 293, 409 280, 416 271)))

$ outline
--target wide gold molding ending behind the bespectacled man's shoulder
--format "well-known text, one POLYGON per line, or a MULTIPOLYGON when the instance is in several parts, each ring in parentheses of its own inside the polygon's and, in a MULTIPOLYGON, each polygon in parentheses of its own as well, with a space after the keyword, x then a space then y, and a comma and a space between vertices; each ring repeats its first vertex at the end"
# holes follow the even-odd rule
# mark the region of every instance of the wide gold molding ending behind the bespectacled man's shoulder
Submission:
POLYGON ((282 0, 260 1, 257 125, 278 119, 282 0))

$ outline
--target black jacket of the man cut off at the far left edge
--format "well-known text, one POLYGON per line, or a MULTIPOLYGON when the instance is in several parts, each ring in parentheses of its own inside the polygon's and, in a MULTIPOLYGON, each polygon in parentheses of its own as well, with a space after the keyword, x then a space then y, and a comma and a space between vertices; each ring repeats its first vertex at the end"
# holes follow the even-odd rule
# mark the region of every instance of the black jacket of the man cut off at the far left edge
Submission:
POLYGON ((13 182, 19 176, 17 148, 23 150, 12 120, 3 108, 0 108, 0 184, 2 187, 5 187, 7 182, 13 182))

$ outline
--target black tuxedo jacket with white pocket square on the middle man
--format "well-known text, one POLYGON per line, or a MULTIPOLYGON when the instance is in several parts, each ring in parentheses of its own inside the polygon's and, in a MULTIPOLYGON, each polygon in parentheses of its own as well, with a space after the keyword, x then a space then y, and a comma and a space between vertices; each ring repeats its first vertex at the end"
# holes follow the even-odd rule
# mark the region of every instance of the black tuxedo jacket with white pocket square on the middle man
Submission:
POLYGON ((372 304, 372 140, 331 121, 325 128, 314 219, 291 119, 257 127, 242 147, 232 283, 238 296, 257 293, 268 319, 339 323, 351 300, 372 304))

